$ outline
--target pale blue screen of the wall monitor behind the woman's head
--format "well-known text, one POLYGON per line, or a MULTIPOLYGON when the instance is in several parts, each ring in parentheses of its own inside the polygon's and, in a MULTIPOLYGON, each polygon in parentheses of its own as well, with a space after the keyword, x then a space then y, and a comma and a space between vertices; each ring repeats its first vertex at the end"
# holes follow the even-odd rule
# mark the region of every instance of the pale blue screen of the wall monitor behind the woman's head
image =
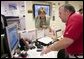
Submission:
POLYGON ((38 10, 43 7, 46 11, 46 14, 50 16, 50 5, 45 4, 34 4, 33 5, 33 15, 34 17, 38 16, 38 10))

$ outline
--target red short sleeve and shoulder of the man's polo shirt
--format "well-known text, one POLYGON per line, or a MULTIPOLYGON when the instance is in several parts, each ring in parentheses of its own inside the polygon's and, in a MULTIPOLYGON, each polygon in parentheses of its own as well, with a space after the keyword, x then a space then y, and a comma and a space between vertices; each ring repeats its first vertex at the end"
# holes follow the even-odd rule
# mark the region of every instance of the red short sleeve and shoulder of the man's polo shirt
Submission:
POLYGON ((64 32, 64 37, 71 38, 73 40, 79 39, 82 29, 83 29, 83 23, 82 23, 82 17, 76 16, 76 17, 71 17, 69 19, 70 21, 68 22, 65 32, 64 32))

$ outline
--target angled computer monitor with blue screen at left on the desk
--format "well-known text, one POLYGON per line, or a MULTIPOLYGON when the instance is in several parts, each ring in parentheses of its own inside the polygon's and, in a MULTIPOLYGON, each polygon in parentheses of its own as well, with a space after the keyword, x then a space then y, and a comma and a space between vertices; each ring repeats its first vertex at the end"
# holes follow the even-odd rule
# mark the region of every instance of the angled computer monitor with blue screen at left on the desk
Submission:
POLYGON ((17 24, 11 24, 6 27, 6 37, 10 56, 13 57, 15 49, 19 45, 19 35, 17 33, 17 24))

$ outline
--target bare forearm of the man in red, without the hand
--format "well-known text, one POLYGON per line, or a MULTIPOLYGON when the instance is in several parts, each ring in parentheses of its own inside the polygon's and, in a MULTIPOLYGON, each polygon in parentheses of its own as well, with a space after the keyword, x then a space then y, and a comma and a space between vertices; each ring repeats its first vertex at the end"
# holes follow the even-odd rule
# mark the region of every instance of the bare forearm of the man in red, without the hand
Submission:
POLYGON ((74 41, 73 41, 72 39, 64 37, 63 39, 59 40, 58 42, 52 44, 49 48, 50 48, 52 51, 61 50, 61 49, 67 48, 67 47, 70 46, 73 42, 74 42, 74 41))

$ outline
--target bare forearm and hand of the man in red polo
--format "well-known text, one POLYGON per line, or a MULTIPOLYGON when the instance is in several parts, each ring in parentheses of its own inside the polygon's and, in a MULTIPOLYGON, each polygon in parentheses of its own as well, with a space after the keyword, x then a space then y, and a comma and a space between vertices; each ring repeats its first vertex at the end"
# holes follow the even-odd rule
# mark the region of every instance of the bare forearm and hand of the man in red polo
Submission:
POLYGON ((41 54, 46 54, 50 51, 58 51, 70 46, 74 41, 70 38, 64 37, 63 39, 59 40, 58 42, 53 43, 52 45, 43 49, 41 54))

